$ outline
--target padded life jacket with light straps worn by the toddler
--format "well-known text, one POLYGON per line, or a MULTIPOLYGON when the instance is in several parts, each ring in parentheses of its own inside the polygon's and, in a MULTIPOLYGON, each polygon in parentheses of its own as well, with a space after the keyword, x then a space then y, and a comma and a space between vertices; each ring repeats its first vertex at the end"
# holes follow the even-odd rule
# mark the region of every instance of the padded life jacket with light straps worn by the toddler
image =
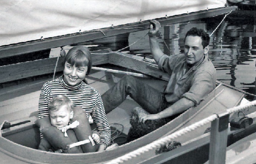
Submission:
MULTIPOLYGON (((35 124, 39 127, 43 137, 46 138, 55 150, 62 150, 63 153, 85 153, 97 151, 99 144, 95 144, 93 146, 91 142, 69 148, 69 145, 77 143, 78 141, 89 140, 89 136, 92 135, 86 112, 81 106, 75 106, 73 111, 74 115, 70 120, 70 123, 72 124, 77 120, 79 125, 74 129, 68 129, 66 131, 68 137, 65 137, 61 130, 51 125, 49 116, 37 119, 35 124)), ((96 131, 93 133, 98 134, 96 131)), ((100 136, 100 134, 98 135, 100 136)))

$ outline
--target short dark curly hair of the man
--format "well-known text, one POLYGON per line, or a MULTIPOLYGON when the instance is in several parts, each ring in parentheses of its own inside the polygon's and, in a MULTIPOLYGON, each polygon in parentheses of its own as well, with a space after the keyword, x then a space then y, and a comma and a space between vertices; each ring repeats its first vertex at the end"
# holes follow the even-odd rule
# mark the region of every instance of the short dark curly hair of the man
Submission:
MULTIPOLYGON (((185 36, 185 40, 186 40, 187 36, 199 36, 199 37, 201 37, 203 48, 208 46, 209 43, 210 43, 210 36, 204 30, 198 29, 197 27, 193 27, 187 32, 187 34, 185 36)), ((184 42, 185 42, 185 40, 184 40, 184 42)))

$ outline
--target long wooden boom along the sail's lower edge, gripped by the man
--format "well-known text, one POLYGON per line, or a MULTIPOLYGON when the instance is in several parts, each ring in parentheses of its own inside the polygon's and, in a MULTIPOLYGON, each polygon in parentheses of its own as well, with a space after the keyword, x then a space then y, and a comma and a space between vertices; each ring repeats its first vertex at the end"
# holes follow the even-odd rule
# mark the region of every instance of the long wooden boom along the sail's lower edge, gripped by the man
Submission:
MULTIPOLYGON (((210 10, 204 10, 199 12, 193 12, 189 14, 181 14, 181 15, 176 15, 176 16, 171 16, 171 17, 161 18, 156 20, 158 20, 162 24, 162 26, 165 26, 168 24, 175 24, 179 22, 187 22, 190 20, 217 16, 223 13, 230 12, 232 10, 237 10, 237 6, 221 7, 218 9, 210 9, 210 10)), ((114 26, 114 29, 111 27, 102 28, 101 30, 104 30, 104 34, 100 30, 94 31, 94 32, 89 31, 81 34, 75 33, 75 34, 70 34, 65 36, 59 36, 53 39, 36 40, 34 42, 29 42, 29 43, 20 43, 16 45, 3 46, 0 48, 0 58, 6 58, 8 56, 20 55, 24 53, 40 51, 40 50, 49 49, 49 48, 66 46, 72 43, 86 42, 88 40, 100 39, 100 38, 120 35, 124 33, 136 32, 136 31, 145 30, 148 28, 149 28, 149 21, 144 21, 142 23, 136 22, 136 23, 114 26), (115 29, 121 29, 121 30, 115 30, 115 29)))

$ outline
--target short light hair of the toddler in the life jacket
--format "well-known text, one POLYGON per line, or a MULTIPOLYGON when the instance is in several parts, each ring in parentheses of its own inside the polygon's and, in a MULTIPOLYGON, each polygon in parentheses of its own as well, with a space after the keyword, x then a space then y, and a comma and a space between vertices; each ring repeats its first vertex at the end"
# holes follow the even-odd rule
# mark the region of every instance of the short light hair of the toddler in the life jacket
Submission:
POLYGON ((73 103, 66 95, 58 95, 49 101, 48 110, 58 111, 60 106, 68 105, 69 111, 72 111, 73 103))

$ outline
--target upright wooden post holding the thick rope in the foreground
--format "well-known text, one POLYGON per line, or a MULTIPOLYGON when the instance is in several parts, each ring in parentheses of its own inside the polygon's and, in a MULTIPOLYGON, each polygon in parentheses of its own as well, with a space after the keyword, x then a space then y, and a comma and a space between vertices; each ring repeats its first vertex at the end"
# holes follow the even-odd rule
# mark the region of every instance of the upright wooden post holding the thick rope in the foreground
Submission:
POLYGON ((209 164, 225 164, 229 114, 211 122, 209 164))

